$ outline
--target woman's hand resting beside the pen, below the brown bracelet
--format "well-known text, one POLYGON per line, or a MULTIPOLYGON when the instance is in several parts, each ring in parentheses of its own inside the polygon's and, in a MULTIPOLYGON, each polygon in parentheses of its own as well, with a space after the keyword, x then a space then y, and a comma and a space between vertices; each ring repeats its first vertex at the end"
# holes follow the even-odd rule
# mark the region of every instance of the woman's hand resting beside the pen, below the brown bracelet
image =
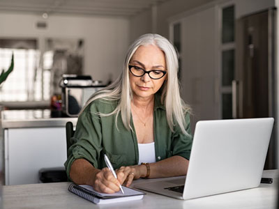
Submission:
POLYGON ((138 179, 144 175, 142 173, 144 172, 144 167, 142 165, 135 165, 130 167, 120 167, 120 169, 116 170, 117 176, 119 173, 123 173, 123 178, 118 178, 121 185, 125 183, 126 187, 129 187, 134 179, 138 179))

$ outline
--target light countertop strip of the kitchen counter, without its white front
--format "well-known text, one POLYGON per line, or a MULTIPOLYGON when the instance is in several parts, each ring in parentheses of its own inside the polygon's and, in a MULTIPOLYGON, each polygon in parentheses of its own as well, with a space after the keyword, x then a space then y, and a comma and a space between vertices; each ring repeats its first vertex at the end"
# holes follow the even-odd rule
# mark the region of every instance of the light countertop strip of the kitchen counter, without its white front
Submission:
POLYGON ((68 121, 75 125, 77 118, 52 118, 50 109, 1 111, 2 128, 65 127, 68 121))

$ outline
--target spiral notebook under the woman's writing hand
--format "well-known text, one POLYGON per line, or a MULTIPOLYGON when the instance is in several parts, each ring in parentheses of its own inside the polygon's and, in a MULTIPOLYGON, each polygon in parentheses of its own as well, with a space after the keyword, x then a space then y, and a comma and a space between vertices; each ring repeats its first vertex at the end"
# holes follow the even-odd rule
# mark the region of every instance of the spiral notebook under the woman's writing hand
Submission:
POLYGON ((144 192, 140 192, 135 189, 128 187, 123 187, 124 194, 121 191, 114 194, 106 194, 101 192, 96 192, 93 187, 89 185, 76 185, 74 183, 70 184, 68 190, 77 196, 82 197, 88 201, 95 204, 108 204, 108 203, 119 203, 124 201, 139 200, 144 197, 144 192))

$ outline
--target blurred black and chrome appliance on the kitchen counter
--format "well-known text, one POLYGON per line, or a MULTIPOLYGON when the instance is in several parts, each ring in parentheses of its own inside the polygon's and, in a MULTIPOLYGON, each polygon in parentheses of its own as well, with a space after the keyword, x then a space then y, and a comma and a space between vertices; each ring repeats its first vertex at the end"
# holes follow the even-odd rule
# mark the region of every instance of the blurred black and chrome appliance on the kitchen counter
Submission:
POLYGON ((93 93, 105 87, 99 81, 93 81, 89 75, 63 75, 62 111, 70 117, 77 117, 86 101, 93 93))

